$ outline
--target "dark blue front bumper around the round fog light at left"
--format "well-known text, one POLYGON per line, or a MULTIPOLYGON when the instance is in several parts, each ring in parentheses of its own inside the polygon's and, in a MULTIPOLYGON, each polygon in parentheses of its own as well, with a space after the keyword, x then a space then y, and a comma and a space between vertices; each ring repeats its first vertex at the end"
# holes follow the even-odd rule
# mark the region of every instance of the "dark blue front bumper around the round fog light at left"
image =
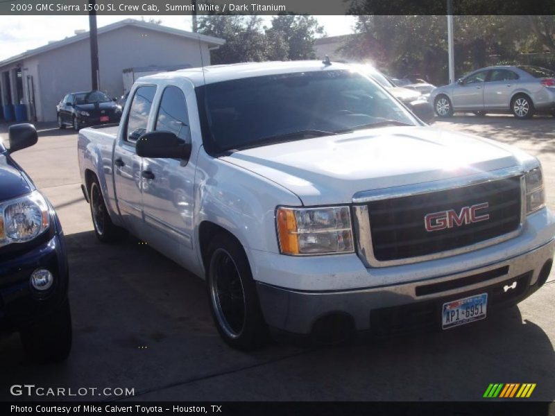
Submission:
POLYGON ((67 297, 68 266, 63 236, 51 239, 19 256, 0 263, 0 330, 14 331, 51 311, 67 297), (54 275, 53 286, 35 291, 31 273, 47 268, 54 275))

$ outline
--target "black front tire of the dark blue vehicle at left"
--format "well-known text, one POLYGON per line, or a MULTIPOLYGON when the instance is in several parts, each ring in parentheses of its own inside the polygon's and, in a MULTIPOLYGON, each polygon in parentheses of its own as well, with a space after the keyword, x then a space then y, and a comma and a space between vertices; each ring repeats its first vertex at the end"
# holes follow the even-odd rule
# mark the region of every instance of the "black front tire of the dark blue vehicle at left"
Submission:
POLYGON ((66 299, 54 311, 19 330, 23 349, 35 363, 59 363, 71 352, 71 312, 66 299))

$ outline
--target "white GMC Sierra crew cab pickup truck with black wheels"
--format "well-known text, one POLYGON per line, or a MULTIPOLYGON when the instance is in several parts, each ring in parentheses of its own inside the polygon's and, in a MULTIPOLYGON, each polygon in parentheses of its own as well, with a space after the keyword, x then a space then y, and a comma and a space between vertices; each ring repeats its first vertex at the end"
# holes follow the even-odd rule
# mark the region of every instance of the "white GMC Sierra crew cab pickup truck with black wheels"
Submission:
POLYGON ((540 163, 423 123, 348 65, 139 78, 119 127, 81 130, 101 241, 126 232, 207 281, 239 349, 504 313, 551 270, 540 163))

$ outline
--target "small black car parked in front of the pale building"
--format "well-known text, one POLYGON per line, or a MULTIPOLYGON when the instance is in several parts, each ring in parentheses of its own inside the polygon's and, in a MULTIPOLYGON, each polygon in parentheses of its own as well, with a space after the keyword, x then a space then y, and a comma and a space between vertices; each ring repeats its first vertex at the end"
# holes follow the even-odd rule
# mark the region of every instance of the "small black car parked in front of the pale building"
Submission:
POLYGON ((119 123, 121 106, 101 91, 71 92, 58 105, 58 127, 78 131, 89 125, 119 123))

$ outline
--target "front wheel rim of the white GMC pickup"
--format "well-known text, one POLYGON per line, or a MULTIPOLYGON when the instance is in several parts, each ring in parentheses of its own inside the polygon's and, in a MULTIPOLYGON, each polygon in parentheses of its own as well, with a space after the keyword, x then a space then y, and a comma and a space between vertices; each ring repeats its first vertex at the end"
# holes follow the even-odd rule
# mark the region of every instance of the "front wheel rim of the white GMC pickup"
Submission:
POLYGON ((210 295, 221 329, 230 338, 241 336, 246 317, 243 283, 237 265, 223 248, 210 261, 210 295))

